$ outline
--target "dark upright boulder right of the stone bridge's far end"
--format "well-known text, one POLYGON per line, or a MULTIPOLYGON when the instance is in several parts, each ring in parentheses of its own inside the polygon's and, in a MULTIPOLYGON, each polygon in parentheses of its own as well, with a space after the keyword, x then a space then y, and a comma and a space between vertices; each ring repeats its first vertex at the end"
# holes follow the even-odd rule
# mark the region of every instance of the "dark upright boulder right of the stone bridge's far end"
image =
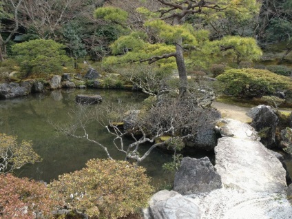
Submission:
POLYGON ((275 146, 275 129, 279 123, 279 118, 275 114, 272 107, 267 105, 258 105, 253 107, 247 115, 253 118, 251 126, 255 128, 257 132, 263 132, 261 142, 267 148, 275 146))

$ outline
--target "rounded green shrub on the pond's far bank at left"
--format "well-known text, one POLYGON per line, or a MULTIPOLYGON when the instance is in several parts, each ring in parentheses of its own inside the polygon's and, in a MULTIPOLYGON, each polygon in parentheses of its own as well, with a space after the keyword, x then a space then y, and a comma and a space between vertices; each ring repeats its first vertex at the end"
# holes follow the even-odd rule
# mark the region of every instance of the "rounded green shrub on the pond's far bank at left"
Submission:
POLYGON ((63 71, 63 66, 70 62, 65 55, 65 45, 53 40, 36 39, 12 46, 15 60, 25 74, 54 73, 63 71))

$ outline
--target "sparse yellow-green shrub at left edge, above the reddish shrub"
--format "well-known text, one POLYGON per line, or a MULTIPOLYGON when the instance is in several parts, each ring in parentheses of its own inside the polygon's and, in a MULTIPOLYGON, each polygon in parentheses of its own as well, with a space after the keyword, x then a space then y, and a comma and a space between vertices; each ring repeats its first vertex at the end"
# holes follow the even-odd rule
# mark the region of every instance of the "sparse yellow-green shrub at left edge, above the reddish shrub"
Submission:
POLYGON ((17 143, 16 136, 0 133, 0 174, 39 160, 40 157, 34 152, 30 141, 17 143))

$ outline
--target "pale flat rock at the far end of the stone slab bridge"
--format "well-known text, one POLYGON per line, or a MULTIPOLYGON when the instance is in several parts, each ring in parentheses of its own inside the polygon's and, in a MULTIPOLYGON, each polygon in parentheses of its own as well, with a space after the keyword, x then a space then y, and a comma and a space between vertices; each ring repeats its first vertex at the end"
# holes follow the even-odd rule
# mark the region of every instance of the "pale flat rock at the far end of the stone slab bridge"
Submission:
POLYGON ((242 123, 231 118, 221 118, 216 123, 216 130, 223 137, 235 137, 247 140, 260 140, 255 129, 247 123, 242 123))

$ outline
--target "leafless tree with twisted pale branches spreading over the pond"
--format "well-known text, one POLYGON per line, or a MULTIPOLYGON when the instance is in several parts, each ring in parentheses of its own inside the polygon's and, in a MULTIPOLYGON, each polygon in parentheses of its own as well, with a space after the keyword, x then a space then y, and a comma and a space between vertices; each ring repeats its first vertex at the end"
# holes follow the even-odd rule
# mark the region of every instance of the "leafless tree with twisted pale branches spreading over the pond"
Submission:
MULTIPOLYGON (((136 108, 136 107, 134 107, 136 108)), ((87 125, 93 121, 100 123, 112 135, 114 147, 125 154, 125 160, 133 159, 138 165, 156 147, 183 148, 183 140, 196 135, 199 127, 205 123, 212 123, 209 110, 196 107, 189 101, 177 98, 167 98, 149 112, 145 110, 130 110, 125 105, 107 105, 102 103, 94 109, 86 105, 79 105, 78 110, 70 114, 71 122, 67 125, 52 124, 59 133, 74 138, 84 138, 94 145, 101 147, 107 157, 112 159, 108 145, 93 139, 87 125), (127 116, 127 119, 124 119, 127 116), (124 125, 121 127, 121 121, 124 125), (125 125, 127 123, 127 125, 125 125), (167 140, 160 140, 167 136, 167 140), (132 143, 125 144, 125 138, 131 138, 132 143), (152 143, 147 152, 140 154, 143 143, 152 143)))

